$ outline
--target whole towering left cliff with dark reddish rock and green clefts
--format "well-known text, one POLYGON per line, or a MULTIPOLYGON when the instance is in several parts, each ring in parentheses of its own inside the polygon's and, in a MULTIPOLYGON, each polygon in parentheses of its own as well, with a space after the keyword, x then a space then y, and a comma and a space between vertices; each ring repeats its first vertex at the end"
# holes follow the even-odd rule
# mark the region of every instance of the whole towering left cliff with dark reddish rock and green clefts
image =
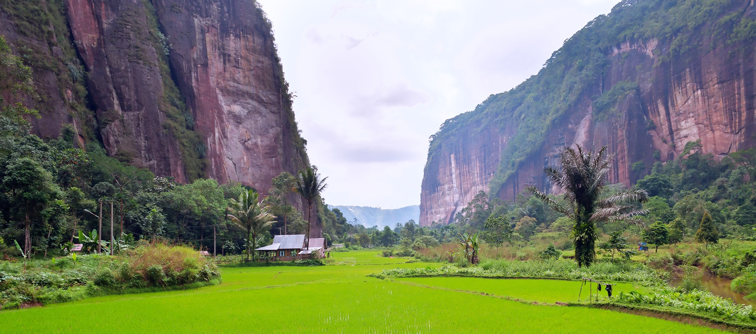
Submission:
POLYGON ((253 0, 0 0, 0 34, 33 69, 33 132, 158 176, 240 181, 308 165, 271 24, 253 0))

